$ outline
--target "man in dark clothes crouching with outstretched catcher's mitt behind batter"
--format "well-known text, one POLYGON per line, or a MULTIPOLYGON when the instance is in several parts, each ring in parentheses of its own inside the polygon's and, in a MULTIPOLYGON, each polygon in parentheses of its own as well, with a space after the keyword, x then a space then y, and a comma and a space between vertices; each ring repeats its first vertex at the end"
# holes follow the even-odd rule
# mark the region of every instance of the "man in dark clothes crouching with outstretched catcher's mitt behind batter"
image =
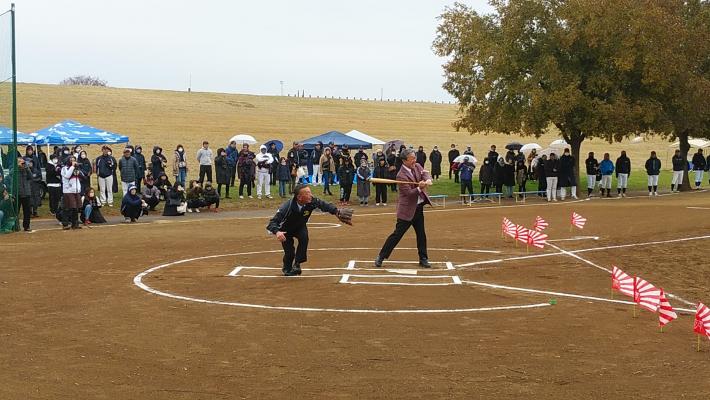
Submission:
POLYGON ((308 219, 316 208, 338 217, 340 222, 352 225, 353 210, 337 208, 313 197, 311 188, 306 185, 296 185, 293 198, 279 207, 266 229, 276 235, 284 249, 283 268, 285 276, 301 275, 301 264, 308 259, 308 219), (298 248, 294 251, 294 239, 298 240, 298 248))

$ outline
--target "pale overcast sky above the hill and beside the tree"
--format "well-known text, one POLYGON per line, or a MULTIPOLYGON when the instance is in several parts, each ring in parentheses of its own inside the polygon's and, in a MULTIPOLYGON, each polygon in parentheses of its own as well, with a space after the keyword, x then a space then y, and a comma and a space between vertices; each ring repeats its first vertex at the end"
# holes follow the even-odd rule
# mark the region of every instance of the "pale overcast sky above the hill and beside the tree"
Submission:
MULTIPOLYGON (((21 82, 449 100, 436 0, 17 0, 21 82)), ((489 11, 485 0, 467 0, 489 11)), ((0 3, 2 4, 2 3, 0 3)), ((9 2, 4 3, 9 8, 9 2)))

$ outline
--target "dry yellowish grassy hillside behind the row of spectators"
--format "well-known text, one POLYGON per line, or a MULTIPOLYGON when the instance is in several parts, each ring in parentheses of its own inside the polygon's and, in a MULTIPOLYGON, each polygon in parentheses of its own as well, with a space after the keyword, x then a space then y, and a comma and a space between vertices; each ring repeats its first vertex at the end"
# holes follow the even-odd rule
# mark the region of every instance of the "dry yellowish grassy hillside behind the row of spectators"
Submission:
MULTIPOLYGON (((216 150, 236 133, 290 143, 329 130, 351 129, 383 140, 404 139, 414 146, 423 145, 427 152, 435 144, 444 152, 451 143, 460 148, 469 145, 479 154, 493 143, 502 147, 511 140, 536 141, 545 147, 557 139, 555 133, 535 139, 456 132, 451 126, 456 113, 457 106, 450 104, 18 85, 20 131, 32 132, 63 119, 75 119, 128 135, 132 143, 141 144, 148 151, 156 144, 167 151, 182 143, 189 154, 194 154, 204 139, 216 150)), ((662 160, 668 160, 668 144, 658 139, 613 145, 597 140, 582 146, 584 154, 609 151, 613 159, 621 149, 627 150, 635 168, 640 168, 654 149, 662 160)))

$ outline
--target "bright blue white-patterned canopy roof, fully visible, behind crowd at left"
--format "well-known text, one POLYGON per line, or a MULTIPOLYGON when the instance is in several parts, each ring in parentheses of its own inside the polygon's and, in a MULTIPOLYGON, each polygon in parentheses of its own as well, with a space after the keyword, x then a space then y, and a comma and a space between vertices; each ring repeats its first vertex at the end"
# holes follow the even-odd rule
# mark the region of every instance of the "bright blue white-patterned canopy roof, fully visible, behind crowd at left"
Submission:
POLYGON ((33 134, 38 145, 127 143, 128 136, 66 120, 33 134))

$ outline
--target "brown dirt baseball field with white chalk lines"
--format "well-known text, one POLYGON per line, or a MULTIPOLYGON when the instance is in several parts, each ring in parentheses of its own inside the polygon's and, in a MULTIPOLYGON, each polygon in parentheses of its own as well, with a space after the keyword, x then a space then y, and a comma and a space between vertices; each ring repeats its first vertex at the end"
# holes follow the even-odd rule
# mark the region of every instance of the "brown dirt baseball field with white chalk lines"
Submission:
MULTIPOLYGON (((692 315, 661 333, 630 305, 472 283, 609 299, 599 267, 616 264, 693 309, 710 302, 710 193, 436 208, 434 269, 373 270, 393 211, 358 208, 352 228, 315 215, 298 278, 269 269, 281 253, 263 212, 3 236, 0 399, 710 398, 692 315), (576 252, 501 239, 502 217, 538 215, 576 252)), ((410 232, 392 260, 414 247, 410 232)))

